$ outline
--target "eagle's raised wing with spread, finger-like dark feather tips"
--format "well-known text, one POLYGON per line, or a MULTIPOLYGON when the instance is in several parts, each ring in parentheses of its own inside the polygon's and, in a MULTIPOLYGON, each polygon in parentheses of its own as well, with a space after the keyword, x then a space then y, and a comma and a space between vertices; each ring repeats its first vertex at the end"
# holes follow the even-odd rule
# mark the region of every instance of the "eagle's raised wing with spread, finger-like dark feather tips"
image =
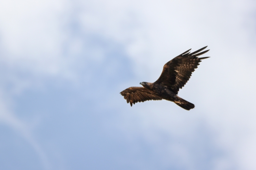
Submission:
POLYGON ((197 57, 210 50, 209 49, 199 53, 206 47, 198 49, 193 53, 190 53, 189 51, 191 49, 189 49, 181 55, 173 58, 171 61, 167 62, 163 66, 163 71, 160 77, 154 83, 161 84, 162 86, 167 86, 168 88, 173 90, 174 93, 178 94, 178 91, 187 83, 192 72, 195 71, 195 69, 199 65, 199 62, 201 62, 202 59, 209 58, 197 57))

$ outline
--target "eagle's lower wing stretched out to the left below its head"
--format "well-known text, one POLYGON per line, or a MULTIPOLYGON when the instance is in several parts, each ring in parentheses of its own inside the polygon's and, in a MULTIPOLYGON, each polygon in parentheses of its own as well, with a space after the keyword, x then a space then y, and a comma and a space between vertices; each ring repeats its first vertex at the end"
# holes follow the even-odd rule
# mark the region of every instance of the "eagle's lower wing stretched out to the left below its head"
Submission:
POLYGON ((121 92, 121 95, 124 96, 124 99, 126 99, 127 103, 130 102, 131 106, 137 102, 162 100, 161 97, 154 95, 152 91, 149 91, 144 87, 127 88, 121 92))

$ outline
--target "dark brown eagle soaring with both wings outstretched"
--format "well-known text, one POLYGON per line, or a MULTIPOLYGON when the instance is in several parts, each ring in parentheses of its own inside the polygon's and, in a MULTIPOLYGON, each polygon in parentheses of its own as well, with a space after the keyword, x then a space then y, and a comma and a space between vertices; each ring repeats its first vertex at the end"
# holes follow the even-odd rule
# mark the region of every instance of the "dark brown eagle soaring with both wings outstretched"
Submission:
POLYGON ((207 46, 193 53, 189 52, 191 49, 185 51, 163 66, 163 71, 158 80, 153 83, 141 82, 139 84, 143 87, 127 88, 121 92, 121 95, 126 99, 127 103, 130 102, 131 106, 137 102, 165 99, 176 103, 186 110, 195 108, 194 104, 178 97, 178 91, 187 83, 192 72, 195 71, 199 65, 199 62, 209 58, 198 58, 198 56, 210 50, 202 51, 205 48, 207 48, 207 46))

